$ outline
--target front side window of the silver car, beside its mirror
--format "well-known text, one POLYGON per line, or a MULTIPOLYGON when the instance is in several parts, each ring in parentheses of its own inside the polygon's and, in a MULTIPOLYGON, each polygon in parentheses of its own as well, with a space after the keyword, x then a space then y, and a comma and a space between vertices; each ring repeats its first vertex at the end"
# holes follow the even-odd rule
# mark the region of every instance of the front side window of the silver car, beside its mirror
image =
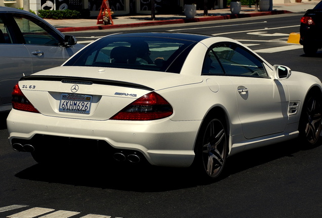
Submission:
POLYGON ((25 16, 14 17, 26 44, 59 45, 59 37, 46 25, 25 16))

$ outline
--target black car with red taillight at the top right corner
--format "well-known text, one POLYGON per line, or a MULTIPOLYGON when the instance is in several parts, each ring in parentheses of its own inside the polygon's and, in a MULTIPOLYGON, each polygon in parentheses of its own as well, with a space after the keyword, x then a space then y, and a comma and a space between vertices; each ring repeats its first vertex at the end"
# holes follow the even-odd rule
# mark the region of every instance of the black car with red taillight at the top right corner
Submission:
POLYGON ((312 56, 322 47, 322 1, 301 18, 300 36, 305 55, 312 56))

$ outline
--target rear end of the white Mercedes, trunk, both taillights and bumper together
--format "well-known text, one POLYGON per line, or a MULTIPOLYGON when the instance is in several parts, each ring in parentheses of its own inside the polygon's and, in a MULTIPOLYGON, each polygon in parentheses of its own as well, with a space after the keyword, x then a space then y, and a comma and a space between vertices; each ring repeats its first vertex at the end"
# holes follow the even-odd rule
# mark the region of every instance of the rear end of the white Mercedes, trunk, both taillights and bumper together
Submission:
POLYGON ((95 79, 82 77, 88 73, 87 67, 58 67, 47 71, 47 75, 23 78, 13 92, 14 111, 7 120, 14 149, 34 150, 34 156, 40 149, 39 155, 46 156, 85 149, 83 144, 87 143, 88 150, 108 150, 110 159, 147 159, 157 166, 190 166, 201 119, 172 120, 176 111, 162 95, 200 83, 200 77, 187 80, 179 74, 165 77, 158 72, 113 69, 113 74, 123 79, 119 82, 98 79, 103 69, 94 69, 95 79), (51 76, 52 72, 59 75, 69 68, 80 77, 51 76), (151 73, 154 76, 149 78, 151 73), (125 78, 135 81, 131 74, 141 74, 144 84, 150 87, 125 82, 125 78))

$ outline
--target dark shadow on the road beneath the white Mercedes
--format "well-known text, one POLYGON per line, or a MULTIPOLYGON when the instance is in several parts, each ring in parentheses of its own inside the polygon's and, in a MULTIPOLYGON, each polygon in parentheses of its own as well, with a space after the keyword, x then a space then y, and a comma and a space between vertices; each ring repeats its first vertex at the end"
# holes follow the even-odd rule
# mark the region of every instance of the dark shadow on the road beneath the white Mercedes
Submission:
MULTIPOLYGON (((292 157, 300 150, 298 143, 293 140, 236 154, 228 158, 222 180, 281 157, 292 157)), ((200 182, 200 178, 191 174, 190 169, 119 166, 96 161, 64 166, 37 164, 17 173, 16 177, 48 183, 136 192, 162 192, 210 184, 200 182)))

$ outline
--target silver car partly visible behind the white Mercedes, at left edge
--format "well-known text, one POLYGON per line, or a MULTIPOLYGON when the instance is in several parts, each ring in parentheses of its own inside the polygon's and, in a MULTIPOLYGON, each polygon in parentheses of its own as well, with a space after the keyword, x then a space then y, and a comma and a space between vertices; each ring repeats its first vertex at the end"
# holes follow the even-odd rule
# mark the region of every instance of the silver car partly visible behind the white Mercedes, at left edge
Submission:
POLYGON ((0 112, 11 110, 22 76, 59 66, 82 47, 32 13, 0 7, 0 112))

